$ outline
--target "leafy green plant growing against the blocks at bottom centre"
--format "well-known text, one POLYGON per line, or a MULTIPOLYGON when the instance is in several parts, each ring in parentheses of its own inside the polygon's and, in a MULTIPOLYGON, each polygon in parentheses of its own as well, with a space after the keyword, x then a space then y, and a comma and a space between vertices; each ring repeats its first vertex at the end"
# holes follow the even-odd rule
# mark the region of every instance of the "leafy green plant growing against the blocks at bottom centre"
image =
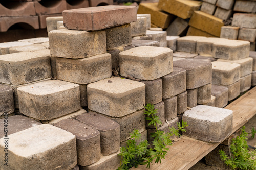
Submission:
POLYGON ((177 123, 177 129, 172 127, 169 128, 170 131, 168 133, 164 133, 164 131, 157 129, 157 123, 162 124, 159 120, 159 117, 156 115, 157 110, 154 109, 154 105, 147 104, 145 107, 144 114, 147 115, 146 120, 149 120, 150 123, 148 125, 154 125, 156 128, 156 132, 151 133, 150 137, 154 137, 154 141, 152 142, 154 145, 153 149, 148 148, 147 140, 140 142, 140 144, 136 145, 136 140, 139 140, 140 133, 138 130, 134 130, 133 133, 130 133, 131 139, 128 140, 127 147, 121 147, 121 161, 118 170, 130 169, 132 167, 138 167, 138 165, 147 165, 146 168, 150 168, 150 165, 155 163, 161 163, 161 159, 165 159, 165 155, 169 148, 167 146, 172 145, 172 140, 170 140, 170 136, 176 135, 181 136, 179 134, 179 130, 182 132, 186 132, 184 129, 187 125, 186 122, 182 121, 177 123))

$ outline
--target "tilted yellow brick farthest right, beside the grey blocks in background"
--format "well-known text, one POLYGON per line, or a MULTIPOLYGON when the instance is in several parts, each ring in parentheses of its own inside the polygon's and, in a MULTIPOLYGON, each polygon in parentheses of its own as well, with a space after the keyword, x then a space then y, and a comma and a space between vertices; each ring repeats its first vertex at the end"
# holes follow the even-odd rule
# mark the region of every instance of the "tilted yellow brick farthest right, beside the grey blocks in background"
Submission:
POLYGON ((220 18, 209 15, 202 11, 194 11, 188 25, 201 31, 205 31, 211 35, 220 37, 221 27, 224 26, 224 23, 220 18))

